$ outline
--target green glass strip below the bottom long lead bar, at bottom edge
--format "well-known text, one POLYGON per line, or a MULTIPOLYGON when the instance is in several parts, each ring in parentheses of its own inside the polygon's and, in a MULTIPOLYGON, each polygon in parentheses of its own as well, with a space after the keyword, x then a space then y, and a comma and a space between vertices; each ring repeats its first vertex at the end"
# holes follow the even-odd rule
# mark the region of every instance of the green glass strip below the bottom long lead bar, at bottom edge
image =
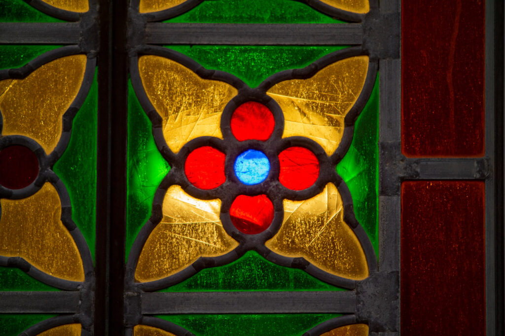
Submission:
POLYGON ((189 314, 159 315, 196 336, 301 336, 339 314, 189 314))

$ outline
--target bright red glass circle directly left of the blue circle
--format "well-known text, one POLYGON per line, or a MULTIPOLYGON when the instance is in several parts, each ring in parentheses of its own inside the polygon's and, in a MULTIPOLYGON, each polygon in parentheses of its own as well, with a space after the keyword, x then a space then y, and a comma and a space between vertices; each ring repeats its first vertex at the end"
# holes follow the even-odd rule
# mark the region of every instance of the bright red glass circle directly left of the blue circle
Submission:
POLYGON ((196 148, 189 153, 184 172, 189 182, 200 189, 213 189, 222 185, 226 155, 211 146, 196 148))

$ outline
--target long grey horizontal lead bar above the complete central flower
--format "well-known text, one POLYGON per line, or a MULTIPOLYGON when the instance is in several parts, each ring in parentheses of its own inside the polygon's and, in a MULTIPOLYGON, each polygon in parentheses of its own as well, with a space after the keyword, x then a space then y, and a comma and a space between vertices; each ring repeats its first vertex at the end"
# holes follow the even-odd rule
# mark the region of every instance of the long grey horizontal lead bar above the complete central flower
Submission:
POLYGON ((357 45, 363 43, 363 27, 359 23, 147 23, 144 41, 150 44, 357 45))

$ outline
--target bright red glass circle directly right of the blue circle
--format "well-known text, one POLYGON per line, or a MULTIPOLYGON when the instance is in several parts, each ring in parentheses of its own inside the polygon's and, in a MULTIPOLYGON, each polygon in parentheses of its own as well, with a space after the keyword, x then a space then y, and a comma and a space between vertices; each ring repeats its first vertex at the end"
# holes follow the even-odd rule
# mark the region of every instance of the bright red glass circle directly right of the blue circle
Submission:
POLYGON ((319 177, 319 160, 304 147, 289 147, 279 154, 280 183, 291 190, 311 187, 319 177))

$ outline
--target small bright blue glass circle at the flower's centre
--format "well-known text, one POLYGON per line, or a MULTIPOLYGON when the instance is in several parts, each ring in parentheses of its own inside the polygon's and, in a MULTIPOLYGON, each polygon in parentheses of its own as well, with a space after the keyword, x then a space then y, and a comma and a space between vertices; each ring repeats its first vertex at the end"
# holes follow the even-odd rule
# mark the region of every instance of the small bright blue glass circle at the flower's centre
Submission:
POLYGON ((263 152, 247 149, 237 156, 233 169, 240 182, 251 186, 265 181, 270 172, 270 161, 263 152))

